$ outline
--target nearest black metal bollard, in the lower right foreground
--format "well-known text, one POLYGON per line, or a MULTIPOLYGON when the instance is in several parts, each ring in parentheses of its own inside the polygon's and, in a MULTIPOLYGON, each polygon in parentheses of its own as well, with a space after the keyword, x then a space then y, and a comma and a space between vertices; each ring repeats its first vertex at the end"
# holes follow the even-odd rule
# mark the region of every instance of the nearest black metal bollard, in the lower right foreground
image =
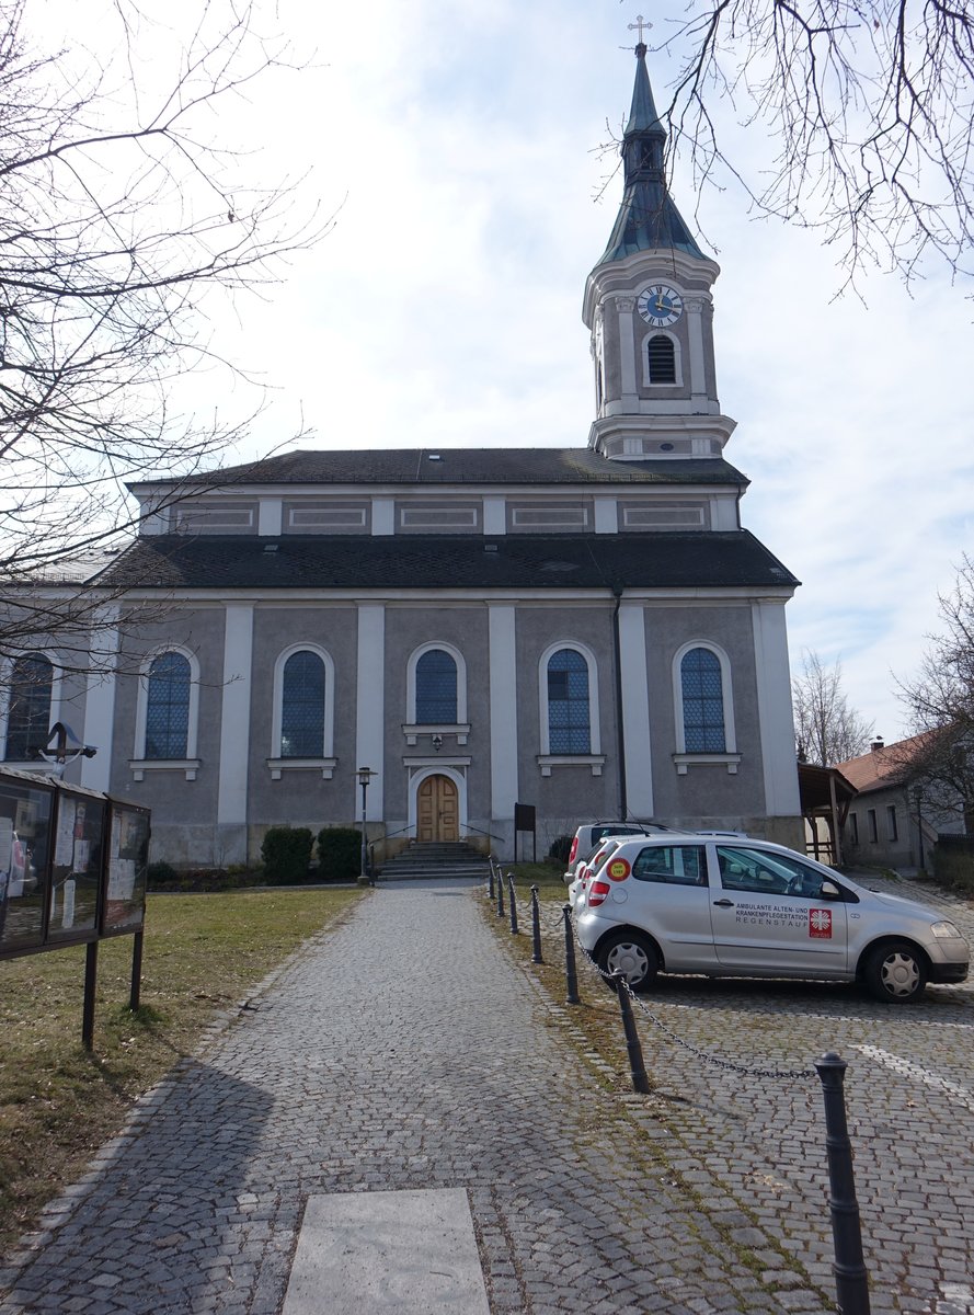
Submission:
POLYGON ((828 1208, 832 1214, 832 1243, 836 1297, 841 1315, 869 1315, 869 1277, 862 1258, 860 1207, 852 1169, 852 1141, 845 1122, 846 1063, 828 1051, 815 1068, 822 1078, 825 1102, 825 1149, 828 1155, 828 1208))

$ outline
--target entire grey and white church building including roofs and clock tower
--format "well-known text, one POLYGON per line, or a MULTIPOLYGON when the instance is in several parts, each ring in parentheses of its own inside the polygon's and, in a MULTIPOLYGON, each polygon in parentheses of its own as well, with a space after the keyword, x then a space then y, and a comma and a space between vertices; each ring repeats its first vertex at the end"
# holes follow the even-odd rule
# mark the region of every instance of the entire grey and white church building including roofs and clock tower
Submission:
POLYGON ((515 803, 539 849, 595 818, 800 844, 798 581, 740 523, 719 270, 668 195, 636 55, 624 196, 585 288, 588 444, 292 452, 133 487, 138 539, 92 588, 145 623, 88 680, 32 655, 33 711, 12 673, 8 763, 70 721, 97 755, 68 775, 150 806, 154 857, 187 865, 358 822, 361 768, 380 855, 467 838, 510 859, 515 803))

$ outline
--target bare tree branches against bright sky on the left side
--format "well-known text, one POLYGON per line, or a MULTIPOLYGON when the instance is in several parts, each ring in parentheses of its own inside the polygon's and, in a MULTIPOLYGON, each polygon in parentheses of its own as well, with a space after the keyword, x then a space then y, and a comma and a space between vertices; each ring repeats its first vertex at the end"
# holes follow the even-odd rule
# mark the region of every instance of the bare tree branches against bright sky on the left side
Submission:
POLYGON ((103 614, 104 596, 97 608, 70 588, 30 602, 22 586, 38 573, 78 581, 96 550, 131 538, 126 481, 197 473, 246 437, 259 400, 230 421, 174 404, 180 376, 231 368, 213 351, 208 299, 277 281, 331 224, 296 209, 296 183, 254 185, 244 154, 213 139, 225 101, 293 67, 285 42, 258 33, 248 0, 200 7, 181 45, 133 0, 105 12, 114 46, 106 36, 101 58, 80 59, 37 53, 26 0, 0 0, 8 658, 37 643, 37 627, 80 643, 103 614))

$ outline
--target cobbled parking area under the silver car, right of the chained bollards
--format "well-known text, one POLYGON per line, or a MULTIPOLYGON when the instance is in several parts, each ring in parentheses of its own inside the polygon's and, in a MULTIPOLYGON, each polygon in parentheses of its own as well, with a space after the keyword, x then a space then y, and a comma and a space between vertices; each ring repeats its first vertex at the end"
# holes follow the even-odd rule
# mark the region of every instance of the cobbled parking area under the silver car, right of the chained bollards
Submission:
MULTIPOLYGON (((974 944, 969 897, 857 878, 941 909, 974 944)), ((551 945, 556 961, 559 945, 551 945)), ((589 970, 581 985, 584 999, 597 998, 589 970)), ((873 1315, 974 1315, 974 981, 931 986, 920 1002, 896 1006, 846 985, 662 977, 643 1005, 636 1018, 659 1086, 632 1102, 631 1114, 651 1128, 665 1126, 672 1169, 705 1210, 736 1202, 832 1297, 819 1080, 777 1081, 753 1070, 794 1069, 837 1051, 849 1064, 873 1315)))

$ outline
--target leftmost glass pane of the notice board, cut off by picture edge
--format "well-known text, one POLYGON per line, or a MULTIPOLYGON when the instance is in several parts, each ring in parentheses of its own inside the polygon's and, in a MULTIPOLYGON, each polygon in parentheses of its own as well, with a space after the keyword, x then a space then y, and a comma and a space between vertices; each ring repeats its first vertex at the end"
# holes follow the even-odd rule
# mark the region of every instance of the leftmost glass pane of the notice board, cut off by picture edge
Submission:
POLYGON ((43 939, 51 790, 0 780, 0 951, 43 939))

